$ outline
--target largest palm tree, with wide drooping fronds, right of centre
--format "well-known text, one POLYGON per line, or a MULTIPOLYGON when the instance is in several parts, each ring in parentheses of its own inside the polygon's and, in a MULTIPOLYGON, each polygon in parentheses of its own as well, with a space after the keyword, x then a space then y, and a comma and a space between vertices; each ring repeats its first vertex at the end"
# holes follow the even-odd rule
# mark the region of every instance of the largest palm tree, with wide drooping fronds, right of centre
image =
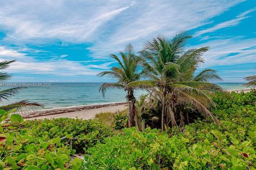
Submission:
POLYGON ((171 122, 172 126, 176 125, 175 115, 182 111, 179 109, 180 105, 192 105, 219 124, 217 118, 207 109, 214 104, 207 92, 219 91, 221 88, 207 81, 220 78, 214 74, 214 70, 209 69, 194 76, 197 66, 203 62, 201 56, 207 52, 208 47, 189 49, 183 53, 184 43, 189 38, 191 36, 181 32, 172 40, 157 37, 148 42, 146 48, 141 51, 141 57, 149 79, 131 82, 128 85, 129 87, 150 88, 160 96, 162 130, 164 130, 165 123, 171 122))

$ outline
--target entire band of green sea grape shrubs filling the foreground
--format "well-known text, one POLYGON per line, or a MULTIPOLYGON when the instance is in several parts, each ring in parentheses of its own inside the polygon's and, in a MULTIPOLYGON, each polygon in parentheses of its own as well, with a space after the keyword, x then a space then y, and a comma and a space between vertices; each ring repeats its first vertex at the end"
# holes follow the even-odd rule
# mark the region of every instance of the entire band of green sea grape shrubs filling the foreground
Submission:
POLYGON ((114 115, 114 128, 96 120, 23 121, 14 115, 0 128, 0 169, 254 169, 256 92, 212 99, 220 126, 198 119, 167 131, 114 130, 123 127, 121 113, 114 115), (71 159, 75 153, 85 162, 71 159))

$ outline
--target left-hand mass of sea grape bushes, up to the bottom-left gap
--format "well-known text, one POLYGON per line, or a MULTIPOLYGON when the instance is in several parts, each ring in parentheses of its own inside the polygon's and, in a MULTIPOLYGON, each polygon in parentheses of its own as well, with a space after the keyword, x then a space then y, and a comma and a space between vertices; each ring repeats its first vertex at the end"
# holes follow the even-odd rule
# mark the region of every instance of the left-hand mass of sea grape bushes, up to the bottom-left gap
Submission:
POLYGON ((2 131, 6 140, 1 143, 0 169, 82 169, 83 161, 71 160, 71 155, 112 135, 98 121, 70 118, 22 122, 16 118, 2 131))

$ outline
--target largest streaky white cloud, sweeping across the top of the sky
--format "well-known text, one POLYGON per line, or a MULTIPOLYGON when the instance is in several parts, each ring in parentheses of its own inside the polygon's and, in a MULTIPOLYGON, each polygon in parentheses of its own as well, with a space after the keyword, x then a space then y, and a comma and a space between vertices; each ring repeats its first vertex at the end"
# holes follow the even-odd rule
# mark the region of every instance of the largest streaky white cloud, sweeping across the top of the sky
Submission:
POLYGON ((2 1, 0 25, 8 30, 5 41, 90 42, 93 57, 102 58, 129 42, 140 49, 159 33, 172 36, 199 27, 239 2, 2 1))

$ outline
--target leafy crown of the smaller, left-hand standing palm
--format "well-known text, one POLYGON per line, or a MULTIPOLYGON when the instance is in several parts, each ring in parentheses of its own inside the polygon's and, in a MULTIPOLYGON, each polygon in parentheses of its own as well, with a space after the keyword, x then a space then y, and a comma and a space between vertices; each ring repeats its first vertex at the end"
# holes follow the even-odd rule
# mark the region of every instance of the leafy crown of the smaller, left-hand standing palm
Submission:
POLYGON ((119 55, 121 58, 117 57, 115 54, 110 54, 110 56, 117 61, 117 67, 112 67, 110 71, 103 71, 98 74, 100 76, 109 76, 117 80, 116 83, 102 84, 99 91, 102 92, 103 96, 105 96, 107 88, 127 90, 126 85, 128 83, 139 80, 143 75, 143 70, 139 70, 139 62, 141 59, 135 55, 131 44, 126 46, 124 52, 119 52, 119 55))

